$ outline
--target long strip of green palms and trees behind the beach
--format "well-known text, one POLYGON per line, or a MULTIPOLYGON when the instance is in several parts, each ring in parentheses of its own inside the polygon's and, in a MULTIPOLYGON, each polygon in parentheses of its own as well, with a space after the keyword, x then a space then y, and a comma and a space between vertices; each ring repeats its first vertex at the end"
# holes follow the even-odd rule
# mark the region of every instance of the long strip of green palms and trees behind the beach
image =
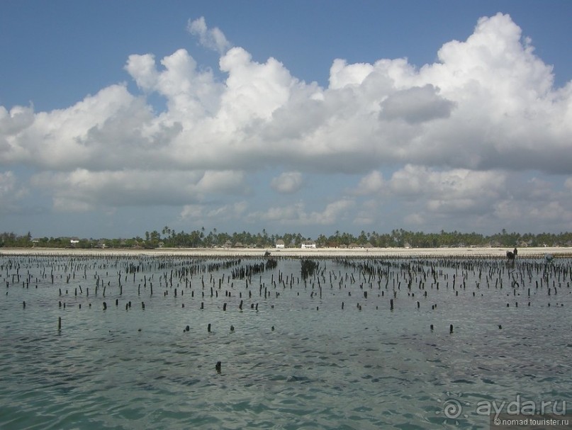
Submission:
POLYGON ((46 248, 211 248, 211 247, 256 247, 271 248, 276 241, 283 240, 286 248, 299 248, 305 240, 314 239, 316 247, 412 247, 412 248, 439 248, 439 247, 571 247, 572 233, 559 234, 520 234, 509 233, 503 230, 491 236, 478 233, 444 232, 423 233, 408 232, 406 230, 393 230, 390 233, 364 232, 358 236, 350 233, 331 234, 329 237, 320 234, 316 238, 303 237, 300 233, 271 234, 262 230, 257 234, 249 232, 232 233, 218 232, 213 229, 206 233, 204 228, 190 233, 175 232, 169 227, 163 227, 161 232, 154 230, 145 232, 144 237, 131 239, 77 239, 72 243, 71 237, 39 237, 32 234, 18 236, 13 233, 0 234, 0 247, 46 247, 46 248))

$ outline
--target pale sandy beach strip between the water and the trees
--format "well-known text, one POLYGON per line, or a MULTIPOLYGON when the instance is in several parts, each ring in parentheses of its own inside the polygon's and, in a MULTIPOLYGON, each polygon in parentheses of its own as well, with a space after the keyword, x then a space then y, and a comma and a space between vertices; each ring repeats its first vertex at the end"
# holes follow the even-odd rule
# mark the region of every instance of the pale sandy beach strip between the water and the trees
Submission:
MULTIPOLYGON (((491 257, 505 258, 512 248, 162 248, 162 249, 57 249, 57 248, 2 248, 0 256, 10 255, 69 255, 69 256, 201 256, 201 257, 256 257, 264 256, 269 251, 271 256, 284 257, 445 257, 470 258, 491 257)), ((518 255, 528 258, 542 258, 545 254, 554 257, 572 256, 570 247, 519 248, 518 255)))

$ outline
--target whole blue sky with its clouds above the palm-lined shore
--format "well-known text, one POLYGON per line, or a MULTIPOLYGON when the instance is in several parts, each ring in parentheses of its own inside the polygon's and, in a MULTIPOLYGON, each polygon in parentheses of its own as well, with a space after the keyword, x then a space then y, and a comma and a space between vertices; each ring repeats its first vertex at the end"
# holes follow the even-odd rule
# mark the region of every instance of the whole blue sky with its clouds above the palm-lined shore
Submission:
POLYGON ((0 10, 0 232, 572 231, 572 1, 0 10))

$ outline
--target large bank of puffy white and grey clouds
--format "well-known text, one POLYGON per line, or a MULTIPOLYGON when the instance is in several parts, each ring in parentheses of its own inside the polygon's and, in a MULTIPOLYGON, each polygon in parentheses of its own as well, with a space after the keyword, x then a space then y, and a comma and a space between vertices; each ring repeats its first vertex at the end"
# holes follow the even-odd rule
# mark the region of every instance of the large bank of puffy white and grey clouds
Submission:
POLYGON ((510 16, 479 19, 422 67, 334 60, 326 87, 275 58, 255 62, 204 18, 187 30, 219 53, 223 79, 184 49, 159 61, 130 55, 137 92, 115 84, 48 112, 0 106, 0 203, 16 208, 9 191, 32 188, 55 210, 171 205, 197 222, 225 213, 255 225, 361 228, 393 214, 429 230, 464 217, 472 230, 520 210, 523 228, 555 218, 572 227, 572 81, 555 88, 510 16), (26 183, 13 173, 21 166, 34 172, 26 183), (261 172, 276 196, 265 209, 244 203, 260 200, 249 177, 261 172), (309 195, 279 204, 311 189, 308 175, 357 181, 330 181, 321 208, 308 209, 309 195))

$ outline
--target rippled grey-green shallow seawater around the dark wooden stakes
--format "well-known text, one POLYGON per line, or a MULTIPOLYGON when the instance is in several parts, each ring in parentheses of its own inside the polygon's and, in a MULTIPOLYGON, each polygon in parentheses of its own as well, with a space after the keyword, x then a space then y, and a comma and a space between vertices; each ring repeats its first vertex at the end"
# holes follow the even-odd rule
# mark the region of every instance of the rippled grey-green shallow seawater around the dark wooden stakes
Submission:
POLYGON ((569 259, 238 276, 266 261, 0 256, 0 428, 487 429, 484 402, 572 405, 569 259))

